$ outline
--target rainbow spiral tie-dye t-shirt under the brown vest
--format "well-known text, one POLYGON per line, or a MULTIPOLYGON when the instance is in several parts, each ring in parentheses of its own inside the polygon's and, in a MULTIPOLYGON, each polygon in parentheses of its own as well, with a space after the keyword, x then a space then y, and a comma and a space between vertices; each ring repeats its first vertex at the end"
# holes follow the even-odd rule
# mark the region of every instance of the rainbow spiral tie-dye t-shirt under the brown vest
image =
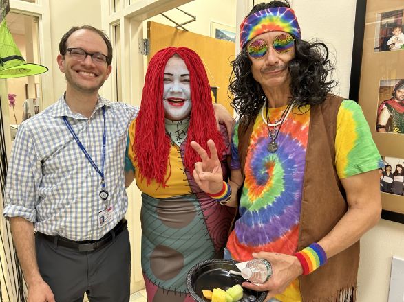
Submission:
MULTIPOLYGON (((270 108, 270 121, 279 119, 285 108, 270 108)), ((309 124, 310 106, 294 108, 275 140, 279 146, 277 151, 271 153, 267 147, 272 141, 268 128, 273 128, 264 123, 261 115, 255 120, 244 167, 241 217, 235 222, 227 243, 234 259, 246 261, 252 258, 251 253, 258 251, 288 255, 297 251, 309 124)), ((233 170, 240 168, 237 129, 238 124, 231 146, 233 170)), ((382 165, 368 123, 356 102, 345 100, 339 108, 335 154, 339 178, 382 165)), ((277 298, 284 302, 300 301, 298 281, 277 298)))

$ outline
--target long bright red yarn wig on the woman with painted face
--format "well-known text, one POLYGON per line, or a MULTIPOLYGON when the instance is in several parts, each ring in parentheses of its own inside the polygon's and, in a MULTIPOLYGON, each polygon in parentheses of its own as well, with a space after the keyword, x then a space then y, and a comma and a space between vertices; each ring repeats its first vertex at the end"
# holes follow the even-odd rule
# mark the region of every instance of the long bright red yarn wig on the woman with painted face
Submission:
POLYGON ((135 140, 132 146, 138 163, 140 176, 151 183, 153 179, 165 187, 167 163, 171 149, 171 139, 165 130, 163 90, 164 69, 169 58, 178 55, 184 60, 189 71, 191 88, 191 119, 187 131, 187 144, 184 152, 184 167, 190 172, 193 165, 201 161, 200 156, 190 146, 196 141, 207 152, 206 142, 212 139, 221 156, 225 150, 222 135, 217 130, 213 112, 211 88, 202 60, 195 51, 187 47, 167 47, 158 51, 147 67, 142 103, 136 118, 135 140))

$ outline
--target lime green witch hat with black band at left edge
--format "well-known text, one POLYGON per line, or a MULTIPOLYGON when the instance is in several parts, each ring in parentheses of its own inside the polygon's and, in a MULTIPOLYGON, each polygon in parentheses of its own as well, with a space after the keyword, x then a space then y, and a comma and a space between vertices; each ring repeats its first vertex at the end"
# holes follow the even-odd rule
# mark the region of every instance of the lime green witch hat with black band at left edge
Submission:
POLYGON ((41 74, 47 67, 25 62, 8 30, 6 20, 0 24, 0 79, 41 74))

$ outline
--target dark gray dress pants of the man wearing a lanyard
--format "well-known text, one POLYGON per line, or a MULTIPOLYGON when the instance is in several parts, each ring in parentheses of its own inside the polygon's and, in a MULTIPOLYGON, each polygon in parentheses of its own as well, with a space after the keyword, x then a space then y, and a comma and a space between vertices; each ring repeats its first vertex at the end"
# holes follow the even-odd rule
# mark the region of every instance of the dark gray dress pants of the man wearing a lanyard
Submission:
POLYGON ((126 302, 130 296, 129 233, 122 231, 109 244, 92 252, 78 252, 35 237, 36 258, 43 280, 56 302, 126 302))

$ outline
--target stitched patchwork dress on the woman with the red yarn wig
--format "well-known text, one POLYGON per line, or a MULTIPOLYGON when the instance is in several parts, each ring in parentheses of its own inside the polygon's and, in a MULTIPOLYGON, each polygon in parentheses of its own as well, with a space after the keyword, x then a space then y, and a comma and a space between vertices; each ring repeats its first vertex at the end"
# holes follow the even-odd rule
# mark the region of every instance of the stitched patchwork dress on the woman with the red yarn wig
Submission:
MULTIPOLYGON (((125 170, 135 171, 136 184, 142 191, 142 271, 147 301, 194 301, 187 292, 187 272, 198 262, 222 258, 235 209, 204 194, 184 168, 186 139, 180 146, 171 143, 167 186, 155 181, 147 185, 134 162, 135 123, 129 127, 125 170)), ((222 133, 228 146, 226 130, 222 133)), ((222 159, 225 180, 227 155, 222 159)))

